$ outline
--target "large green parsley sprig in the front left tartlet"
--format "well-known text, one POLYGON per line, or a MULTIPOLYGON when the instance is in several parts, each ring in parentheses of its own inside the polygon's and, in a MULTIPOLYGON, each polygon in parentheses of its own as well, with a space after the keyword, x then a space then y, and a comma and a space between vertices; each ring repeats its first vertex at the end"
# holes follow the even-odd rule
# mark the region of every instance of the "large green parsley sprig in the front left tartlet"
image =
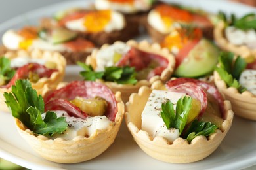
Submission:
POLYGON ((55 112, 45 111, 43 97, 37 95, 28 80, 17 80, 11 93, 4 93, 5 103, 11 109, 12 116, 20 120, 28 129, 40 135, 62 133, 68 128, 66 118, 57 118, 55 112))

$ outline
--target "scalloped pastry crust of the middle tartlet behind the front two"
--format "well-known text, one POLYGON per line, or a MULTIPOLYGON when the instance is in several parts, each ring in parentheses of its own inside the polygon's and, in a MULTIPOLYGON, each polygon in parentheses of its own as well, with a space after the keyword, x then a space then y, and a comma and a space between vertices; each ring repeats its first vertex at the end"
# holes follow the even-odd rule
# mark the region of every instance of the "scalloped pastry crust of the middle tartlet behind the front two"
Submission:
MULTIPOLYGON (((121 41, 116 41, 114 44, 121 43, 121 41)), ((130 40, 127 42, 129 46, 134 46, 135 48, 138 48, 139 50, 142 50, 144 52, 150 52, 153 54, 158 54, 163 56, 164 58, 167 58, 169 61, 168 67, 163 70, 161 73, 161 76, 154 76, 150 78, 150 80, 139 80, 137 84, 117 84, 115 82, 104 82, 103 80, 98 80, 106 86, 108 86, 111 90, 114 92, 121 92, 123 102, 126 103, 129 100, 129 96, 131 93, 138 92, 139 88, 141 86, 150 86, 152 82, 155 82, 156 80, 161 80, 162 82, 166 82, 169 80, 171 75, 173 74, 174 68, 175 68, 175 58, 174 56, 167 50, 167 48, 161 48, 160 44, 150 44, 148 41, 142 41, 142 42, 136 42, 133 40, 130 40)), ((100 49, 107 48, 109 44, 104 44, 100 49)), ((92 65, 92 67, 96 68, 96 54, 98 53, 98 49, 94 50, 91 56, 88 56, 86 59, 86 63, 88 65, 92 65)))

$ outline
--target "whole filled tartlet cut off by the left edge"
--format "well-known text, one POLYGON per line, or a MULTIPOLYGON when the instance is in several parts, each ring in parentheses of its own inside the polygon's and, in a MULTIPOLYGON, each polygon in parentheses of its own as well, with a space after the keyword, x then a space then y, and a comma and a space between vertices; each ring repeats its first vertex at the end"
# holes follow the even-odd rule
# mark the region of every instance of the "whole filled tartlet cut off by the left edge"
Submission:
POLYGON ((9 111, 3 93, 11 92, 11 86, 18 79, 30 80, 37 93, 42 94, 43 86, 56 86, 64 78, 66 59, 58 52, 32 50, 7 52, 0 58, 0 108, 9 111))

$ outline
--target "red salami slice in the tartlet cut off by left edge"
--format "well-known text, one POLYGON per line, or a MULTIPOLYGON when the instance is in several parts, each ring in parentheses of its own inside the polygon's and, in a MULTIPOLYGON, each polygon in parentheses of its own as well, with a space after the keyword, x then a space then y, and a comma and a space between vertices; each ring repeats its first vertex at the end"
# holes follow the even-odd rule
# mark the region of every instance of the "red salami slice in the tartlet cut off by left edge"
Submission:
POLYGON ((40 65, 38 63, 28 63, 16 70, 15 75, 9 81, 8 84, 5 86, 1 86, 1 88, 10 88, 12 85, 15 84, 16 80, 18 79, 26 79, 28 78, 30 73, 37 73, 39 78, 49 78, 53 72, 58 71, 57 69, 48 69, 44 65, 40 65))

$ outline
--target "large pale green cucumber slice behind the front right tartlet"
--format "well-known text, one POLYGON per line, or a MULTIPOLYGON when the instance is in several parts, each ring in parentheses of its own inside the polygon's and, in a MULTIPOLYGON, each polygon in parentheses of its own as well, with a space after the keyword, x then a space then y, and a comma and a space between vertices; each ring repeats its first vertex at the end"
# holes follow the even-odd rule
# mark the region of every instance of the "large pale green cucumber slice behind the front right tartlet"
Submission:
POLYGON ((218 63, 219 48, 213 42, 202 39, 188 53, 188 56, 177 67, 174 75, 197 78, 211 73, 218 63))

